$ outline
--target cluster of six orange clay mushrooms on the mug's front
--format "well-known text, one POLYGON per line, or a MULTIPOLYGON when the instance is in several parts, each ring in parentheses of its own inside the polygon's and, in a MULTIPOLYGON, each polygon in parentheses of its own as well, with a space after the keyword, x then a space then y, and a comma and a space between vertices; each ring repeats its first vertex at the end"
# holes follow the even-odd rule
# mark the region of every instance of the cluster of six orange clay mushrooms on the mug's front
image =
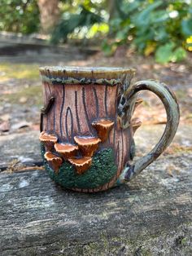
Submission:
POLYGON ((64 160, 69 161, 76 168, 77 174, 83 174, 91 166, 94 152, 98 149, 98 143, 103 143, 107 140, 113 125, 114 122, 107 119, 94 121, 92 126, 97 130, 98 137, 75 136, 76 145, 59 143, 56 135, 42 131, 39 139, 46 148, 44 157, 52 169, 55 170, 55 173, 58 173, 59 167, 64 160), (55 150, 55 153, 51 152, 52 150, 55 150), (80 155, 81 157, 79 157, 80 155))

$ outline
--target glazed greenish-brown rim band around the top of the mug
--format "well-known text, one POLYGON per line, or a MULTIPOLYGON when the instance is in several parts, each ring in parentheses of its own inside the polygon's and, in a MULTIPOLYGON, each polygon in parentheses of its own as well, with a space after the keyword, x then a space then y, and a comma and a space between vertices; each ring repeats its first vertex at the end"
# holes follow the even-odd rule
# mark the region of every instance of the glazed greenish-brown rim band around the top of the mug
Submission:
POLYGON ((45 66, 40 67, 43 82, 53 84, 101 84, 115 86, 123 84, 126 78, 133 78, 136 69, 124 67, 81 67, 45 66))

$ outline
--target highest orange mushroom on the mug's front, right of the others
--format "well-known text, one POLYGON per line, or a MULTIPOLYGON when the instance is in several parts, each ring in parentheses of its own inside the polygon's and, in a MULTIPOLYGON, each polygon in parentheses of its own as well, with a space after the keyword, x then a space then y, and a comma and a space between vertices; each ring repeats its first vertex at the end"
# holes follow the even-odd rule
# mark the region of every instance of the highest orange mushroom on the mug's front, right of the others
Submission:
POLYGON ((97 130, 98 137, 102 142, 107 140, 108 134, 114 125, 114 121, 101 119, 99 121, 93 121, 92 126, 97 130))

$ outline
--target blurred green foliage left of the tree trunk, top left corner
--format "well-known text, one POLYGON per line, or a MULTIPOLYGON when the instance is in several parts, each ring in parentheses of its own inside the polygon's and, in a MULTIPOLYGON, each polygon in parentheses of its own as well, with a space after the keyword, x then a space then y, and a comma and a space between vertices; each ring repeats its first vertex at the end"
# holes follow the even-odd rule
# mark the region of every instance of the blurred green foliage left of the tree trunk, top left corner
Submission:
POLYGON ((39 28, 36 0, 1 0, 0 17, 0 30, 28 34, 39 28))

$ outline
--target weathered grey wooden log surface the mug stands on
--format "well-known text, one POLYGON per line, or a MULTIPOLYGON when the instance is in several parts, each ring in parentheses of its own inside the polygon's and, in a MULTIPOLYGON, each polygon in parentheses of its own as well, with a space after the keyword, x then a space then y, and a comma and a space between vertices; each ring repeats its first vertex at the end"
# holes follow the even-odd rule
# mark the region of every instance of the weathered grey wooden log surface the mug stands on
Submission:
MULTIPOLYGON (((155 127, 141 129, 139 154, 155 127)), ((191 145, 191 130, 180 130, 175 141, 191 145)), ((191 255, 191 169, 191 151, 173 150, 133 182, 91 195, 63 190, 44 170, 2 171, 1 255, 191 255)))

